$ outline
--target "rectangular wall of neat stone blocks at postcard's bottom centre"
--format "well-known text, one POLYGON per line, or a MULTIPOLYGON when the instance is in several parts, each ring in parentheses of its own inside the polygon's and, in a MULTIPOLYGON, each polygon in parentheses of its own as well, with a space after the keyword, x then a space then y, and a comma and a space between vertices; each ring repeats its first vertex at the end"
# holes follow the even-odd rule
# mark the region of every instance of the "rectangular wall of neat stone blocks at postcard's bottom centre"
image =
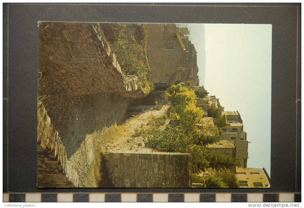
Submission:
POLYGON ((103 165, 114 187, 191 187, 191 154, 107 153, 103 165))

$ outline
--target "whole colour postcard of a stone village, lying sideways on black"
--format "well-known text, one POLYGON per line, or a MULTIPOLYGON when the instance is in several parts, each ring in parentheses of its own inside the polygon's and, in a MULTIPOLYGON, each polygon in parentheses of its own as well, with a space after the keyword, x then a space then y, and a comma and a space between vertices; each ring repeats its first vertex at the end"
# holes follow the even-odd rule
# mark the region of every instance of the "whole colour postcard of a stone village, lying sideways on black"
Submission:
POLYGON ((37 187, 269 188, 271 29, 38 22, 37 187))

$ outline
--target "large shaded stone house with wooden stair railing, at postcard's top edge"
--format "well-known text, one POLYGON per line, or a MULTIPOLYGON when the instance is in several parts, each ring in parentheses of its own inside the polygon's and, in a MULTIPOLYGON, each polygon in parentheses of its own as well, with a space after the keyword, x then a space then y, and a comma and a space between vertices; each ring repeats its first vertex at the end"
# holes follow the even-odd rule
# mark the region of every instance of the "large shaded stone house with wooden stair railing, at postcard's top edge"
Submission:
POLYGON ((188 36, 175 24, 147 24, 147 28, 147 54, 155 86, 164 88, 187 80, 199 84, 196 50, 188 36))

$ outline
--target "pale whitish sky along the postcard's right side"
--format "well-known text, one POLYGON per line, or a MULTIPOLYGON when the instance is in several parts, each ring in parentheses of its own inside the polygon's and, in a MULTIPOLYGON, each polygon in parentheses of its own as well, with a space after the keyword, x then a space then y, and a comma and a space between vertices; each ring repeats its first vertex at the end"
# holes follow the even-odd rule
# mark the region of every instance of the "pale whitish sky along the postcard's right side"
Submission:
POLYGON ((238 110, 251 142, 247 167, 265 167, 270 176, 271 25, 187 27, 197 51, 200 86, 219 98, 224 110, 238 110))

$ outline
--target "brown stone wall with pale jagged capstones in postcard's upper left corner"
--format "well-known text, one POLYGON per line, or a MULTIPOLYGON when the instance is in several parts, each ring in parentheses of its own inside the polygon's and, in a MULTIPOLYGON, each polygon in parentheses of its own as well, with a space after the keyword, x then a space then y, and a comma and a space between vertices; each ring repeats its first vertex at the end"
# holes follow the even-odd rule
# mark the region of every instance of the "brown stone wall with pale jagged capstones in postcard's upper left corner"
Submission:
POLYGON ((144 94, 136 76, 123 74, 98 23, 40 22, 38 31, 39 71, 69 95, 144 94))

